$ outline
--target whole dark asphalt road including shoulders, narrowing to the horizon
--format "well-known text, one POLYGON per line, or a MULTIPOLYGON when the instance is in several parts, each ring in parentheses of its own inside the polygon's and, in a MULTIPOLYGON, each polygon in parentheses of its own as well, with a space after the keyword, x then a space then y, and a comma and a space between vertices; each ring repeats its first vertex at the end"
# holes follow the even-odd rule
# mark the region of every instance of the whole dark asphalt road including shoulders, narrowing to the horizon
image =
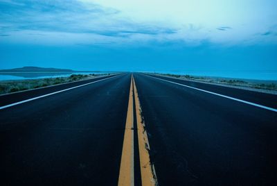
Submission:
POLYGON ((1 183, 277 185, 276 95, 131 77, 0 96, 1 183))

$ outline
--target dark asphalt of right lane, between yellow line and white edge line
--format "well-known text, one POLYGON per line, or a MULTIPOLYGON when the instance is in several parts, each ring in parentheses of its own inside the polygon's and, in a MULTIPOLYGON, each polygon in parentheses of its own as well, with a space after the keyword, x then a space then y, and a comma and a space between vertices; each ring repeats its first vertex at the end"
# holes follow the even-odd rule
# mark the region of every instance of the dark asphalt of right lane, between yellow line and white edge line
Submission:
POLYGON ((134 78, 159 185, 277 185, 276 112, 134 78))

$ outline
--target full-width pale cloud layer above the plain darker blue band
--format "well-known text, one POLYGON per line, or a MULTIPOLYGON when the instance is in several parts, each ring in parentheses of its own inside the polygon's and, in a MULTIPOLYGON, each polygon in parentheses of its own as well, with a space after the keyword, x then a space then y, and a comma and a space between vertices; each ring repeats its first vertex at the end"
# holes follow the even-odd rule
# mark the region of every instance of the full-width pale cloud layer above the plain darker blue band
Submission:
POLYGON ((276 24, 273 19, 265 19, 267 12, 276 14, 271 11, 272 6, 264 6, 269 3, 253 6, 255 3, 246 3, 248 0, 242 3, 199 1, 203 6, 181 0, 0 0, 0 34, 11 36, 1 42, 199 44, 208 41, 235 44, 265 42, 256 36, 257 33, 266 33, 265 28, 276 24), (246 4, 253 10, 262 10, 262 16, 257 18, 256 14, 251 14, 251 8, 246 12, 242 8, 246 4), (215 28, 228 32, 220 34, 215 28))

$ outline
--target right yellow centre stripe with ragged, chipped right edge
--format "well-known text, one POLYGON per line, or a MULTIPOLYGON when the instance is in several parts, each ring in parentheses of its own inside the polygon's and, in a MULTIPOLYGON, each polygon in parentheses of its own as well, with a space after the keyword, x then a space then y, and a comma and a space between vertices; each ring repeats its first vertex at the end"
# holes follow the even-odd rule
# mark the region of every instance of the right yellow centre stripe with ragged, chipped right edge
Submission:
POLYGON ((158 185, 157 176, 155 173, 154 165, 150 163, 150 145, 148 142, 148 135, 145 130, 145 124, 141 115, 141 105, 139 103, 139 96, 136 90, 136 83, 134 78, 134 100, 136 105, 136 125, 138 127, 138 140, 139 140, 139 160, 141 167, 141 184, 143 186, 158 185))

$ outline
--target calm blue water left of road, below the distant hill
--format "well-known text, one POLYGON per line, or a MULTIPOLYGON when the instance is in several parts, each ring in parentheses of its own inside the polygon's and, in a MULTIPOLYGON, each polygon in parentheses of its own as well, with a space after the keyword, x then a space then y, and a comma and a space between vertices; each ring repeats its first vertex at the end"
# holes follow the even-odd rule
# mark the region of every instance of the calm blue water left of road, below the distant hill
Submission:
POLYGON ((0 81, 24 80, 37 78, 57 78, 71 76, 72 74, 106 74, 105 72, 26 72, 26 73, 0 73, 0 81))

